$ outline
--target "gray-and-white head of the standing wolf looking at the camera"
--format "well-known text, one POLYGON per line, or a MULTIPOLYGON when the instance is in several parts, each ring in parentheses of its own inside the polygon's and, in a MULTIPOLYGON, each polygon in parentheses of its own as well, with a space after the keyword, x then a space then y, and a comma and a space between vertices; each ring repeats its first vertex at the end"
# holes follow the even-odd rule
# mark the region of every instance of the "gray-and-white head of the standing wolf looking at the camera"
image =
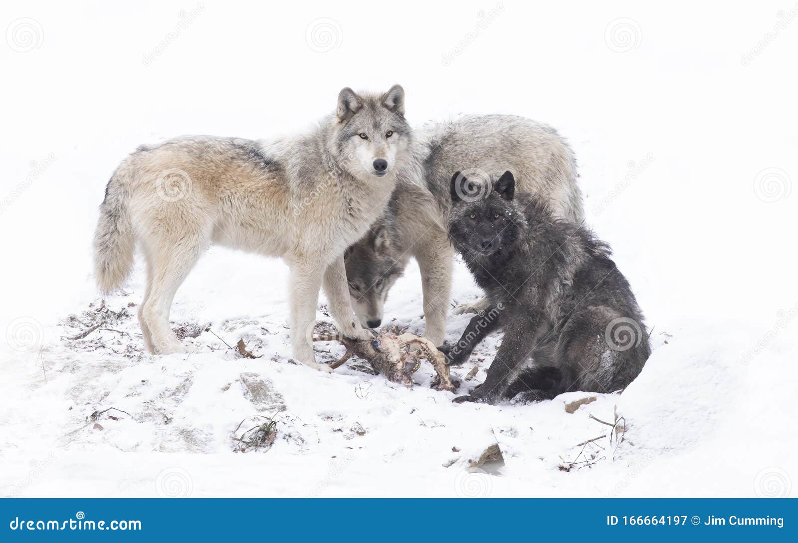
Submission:
POLYGON ((381 96, 358 95, 346 88, 338 95, 338 151, 350 171, 382 177, 396 167, 410 141, 405 121, 405 91, 394 85, 381 96))

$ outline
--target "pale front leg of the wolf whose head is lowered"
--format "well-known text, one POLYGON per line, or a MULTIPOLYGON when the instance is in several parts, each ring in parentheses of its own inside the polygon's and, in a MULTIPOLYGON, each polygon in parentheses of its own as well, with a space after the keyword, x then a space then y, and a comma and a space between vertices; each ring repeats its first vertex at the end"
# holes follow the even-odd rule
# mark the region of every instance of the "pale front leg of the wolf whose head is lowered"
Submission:
POLYGON ((452 291, 452 245, 445 233, 435 234, 415 255, 424 293, 424 336, 435 345, 444 342, 446 311, 452 291))

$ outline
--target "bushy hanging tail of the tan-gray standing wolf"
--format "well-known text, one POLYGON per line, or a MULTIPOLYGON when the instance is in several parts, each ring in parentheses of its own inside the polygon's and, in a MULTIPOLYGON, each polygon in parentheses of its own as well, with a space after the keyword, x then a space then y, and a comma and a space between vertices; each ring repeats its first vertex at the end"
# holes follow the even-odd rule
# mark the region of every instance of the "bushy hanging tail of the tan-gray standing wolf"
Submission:
POLYGON ((128 191, 120 183, 120 172, 111 176, 100 205, 94 231, 94 277, 102 293, 110 293, 127 279, 133 267, 136 236, 128 211, 128 191))

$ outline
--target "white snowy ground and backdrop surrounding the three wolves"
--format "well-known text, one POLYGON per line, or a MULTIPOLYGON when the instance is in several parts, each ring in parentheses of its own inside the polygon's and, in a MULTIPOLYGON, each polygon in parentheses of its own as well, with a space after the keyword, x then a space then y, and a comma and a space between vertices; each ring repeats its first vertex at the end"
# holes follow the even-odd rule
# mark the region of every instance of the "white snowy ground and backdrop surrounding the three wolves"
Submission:
MULTIPOLYGON (((795 495, 798 5, 551 4, 4 2, 0 492, 795 495), (343 86, 394 82, 416 125, 507 112, 571 140, 654 345, 622 395, 573 413, 590 394, 458 405, 429 367, 413 388, 353 363, 311 371, 289 361, 286 266, 215 247, 172 308, 191 355, 141 352, 140 261, 102 305, 97 205, 137 144, 278 136, 343 86), (227 348, 240 338, 260 357, 227 348), (275 443, 235 452, 255 415, 274 416, 275 443), (596 419, 625 423, 622 441, 596 419), (470 467, 494 443, 500 472, 470 467)), ((479 295, 458 264, 453 301, 479 295)), ((420 298, 412 265, 386 317, 421 332, 420 298)), ((451 316, 448 339, 467 321, 451 316)), ((454 370, 479 367, 460 393, 499 342, 454 370)))

